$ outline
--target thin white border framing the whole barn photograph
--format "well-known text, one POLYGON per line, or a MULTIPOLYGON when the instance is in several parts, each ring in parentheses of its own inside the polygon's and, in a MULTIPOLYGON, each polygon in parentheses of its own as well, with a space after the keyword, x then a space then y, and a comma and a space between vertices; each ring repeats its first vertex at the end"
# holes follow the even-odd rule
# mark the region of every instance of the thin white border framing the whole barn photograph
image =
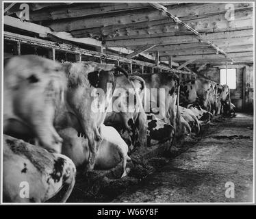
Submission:
MULTIPOLYGON (((253 3, 253 44, 254 44, 254 51, 253 51, 253 58, 255 60, 255 1, 151 1, 151 0, 145 0, 145 1, 34 1, 36 3, 65 3, 65 2, 73 2, 73 3, 92 3, 92 2, 102 2, 102 3, 145 3, 145 2, 157 2, 157 3, 165 3, 165 2, 173 2, 173 3, 253 3)), ((1 60, 1 68, 2 68, 2 74, 1 74, 1 106, 3 106, 3 4, 4 3, 31 3, 33 1, 2 1, 2 16, 1 16, 1 36, 2 36, 2 60, 1 60)), ((253 72, 255 73, 255 62, 253 64, 253 72)), ((254 97, 255 97, 255 74, 253 75, 253 89, 254 89, 254 97)), ((1 202, 0 205, 251 205, 255 204, 255 98, 253 100, 253 202, 251 203, 3 203, 3 133, 1 133, 1 202)), ((1 107, 1 121, 3 121, 3 107, 1 107)), ((3 132, 3 123, 1 123, 1 130, 3 132)))

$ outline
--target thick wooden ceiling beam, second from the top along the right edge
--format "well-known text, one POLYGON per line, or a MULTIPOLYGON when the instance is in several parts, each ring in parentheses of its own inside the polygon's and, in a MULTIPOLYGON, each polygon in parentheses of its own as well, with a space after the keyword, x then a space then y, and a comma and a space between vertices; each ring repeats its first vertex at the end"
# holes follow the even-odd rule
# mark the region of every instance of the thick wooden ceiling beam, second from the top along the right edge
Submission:
MULTIPOLYGON (((235 22, 227 21, 225 19, 225 13, 223 14, 208 14, 196 17, 183 17, 188 25, 196 29, 201 33, 207 33, 211 31, 231 31, 237 29, 249 29, 253 28, 253 8, 246 10, 235 10, 235 22)), ((143 34, 159 34, 159 33, 172 33, 172 35, 188 34, 189 31, 179 25, 179 29, 175 29, 175 23, 170 23, 166 20, 146 21, 138 23, 127 23, 125 25, 105 25, 102 27, 93 27, 86 29, 78 29, 71 31, 76 37, 84 36, 133 36, 143 34)))

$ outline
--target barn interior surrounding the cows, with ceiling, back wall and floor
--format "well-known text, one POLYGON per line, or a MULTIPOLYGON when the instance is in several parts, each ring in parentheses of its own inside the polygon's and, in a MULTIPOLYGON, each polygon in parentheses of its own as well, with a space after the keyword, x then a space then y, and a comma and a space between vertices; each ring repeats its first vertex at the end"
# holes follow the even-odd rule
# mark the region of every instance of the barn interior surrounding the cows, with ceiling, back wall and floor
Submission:
POLYGON ((104 197, 112 198, 102 196, 102 182, 94 187, 101 196, 84 198, 79 179, 71 202, 251 202, 253 2, 5 2, 3 9, 4 57, 36 54, 57 62, 114 63, 131 75, 172 72, 181 81, 203 75, 230 88, 236 118, 218 118, 200 140, 190 137, 174 148, 171 161, 160 156, 151 157, 155 166, 140 164, 138 175, 164 166, 164 172, 145 177, 149 183, 138 186, 136 174, 114 181, 109 171, 104 197), (223 177, 237 186, 235 198, 225 197, 223 177), (129 186, 138 188, 127 191, 129 186))

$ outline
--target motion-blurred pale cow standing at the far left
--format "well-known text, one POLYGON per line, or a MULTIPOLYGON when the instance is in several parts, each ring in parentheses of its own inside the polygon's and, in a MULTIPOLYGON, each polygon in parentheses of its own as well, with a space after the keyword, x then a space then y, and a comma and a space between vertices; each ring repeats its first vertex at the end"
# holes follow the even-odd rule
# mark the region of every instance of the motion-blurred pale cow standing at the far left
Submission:
POLYGON ((3 132, 38 138, 45 149, 59 152, 62 139, 53 127, 55 108, 64 101, 66 77, 61 64, 36 55, 4 60, 3 132))

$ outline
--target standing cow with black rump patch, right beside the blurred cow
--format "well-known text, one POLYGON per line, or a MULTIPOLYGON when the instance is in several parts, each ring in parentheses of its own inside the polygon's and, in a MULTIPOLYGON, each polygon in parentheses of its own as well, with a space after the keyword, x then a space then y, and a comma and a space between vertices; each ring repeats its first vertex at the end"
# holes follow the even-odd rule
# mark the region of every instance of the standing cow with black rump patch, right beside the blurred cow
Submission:
POLYGON ((68 78, 66 105, 55 116, 57 131, 73 127, 78 136, 88 139, 90 148, 88 170, 93 170, 95 157, 102 141, 99 127, 103 124, 108 102, 116 84, 114 70, 128 77, 127 72, 114 64, 77 62, 64 64, 68 78))

